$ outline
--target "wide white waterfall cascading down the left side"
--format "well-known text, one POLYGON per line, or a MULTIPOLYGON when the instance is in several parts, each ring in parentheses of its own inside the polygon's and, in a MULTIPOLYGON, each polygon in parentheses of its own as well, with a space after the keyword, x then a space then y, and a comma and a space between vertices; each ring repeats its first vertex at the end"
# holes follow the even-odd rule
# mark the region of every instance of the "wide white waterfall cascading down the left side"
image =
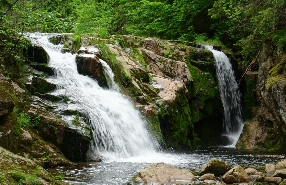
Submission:
POLYGON ((103 89, 92 78, 78 74, 76 55, 61 53, 62 45, 53 45, 48 38, 55 34, 29 33, 34 44, 40 44, 49 54, 49 66, 57 86, 65 88, 69 96, 78 100, 88 113, 92 126, 92 147, 103 160, 116 160, 156 153, 160 146, 147 131, 134 105, 120 92, 112 70, 102 63, 111 90, 103 89))

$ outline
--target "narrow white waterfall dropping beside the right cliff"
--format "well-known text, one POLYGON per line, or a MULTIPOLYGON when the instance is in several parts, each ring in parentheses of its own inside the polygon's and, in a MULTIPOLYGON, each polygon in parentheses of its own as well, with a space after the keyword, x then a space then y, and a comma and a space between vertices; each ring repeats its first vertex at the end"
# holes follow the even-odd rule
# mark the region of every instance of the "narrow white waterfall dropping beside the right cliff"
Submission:
POLYGON ((240 104, 240 92, 235 80, 235 73, 231 62, 225 53, 217 51, 211 45, 199 45, 200 48, 210 50, 217 65, 217 81, 224 112, 224 135, 228 136, 235 146, 243 129, 243 114, 240 104))

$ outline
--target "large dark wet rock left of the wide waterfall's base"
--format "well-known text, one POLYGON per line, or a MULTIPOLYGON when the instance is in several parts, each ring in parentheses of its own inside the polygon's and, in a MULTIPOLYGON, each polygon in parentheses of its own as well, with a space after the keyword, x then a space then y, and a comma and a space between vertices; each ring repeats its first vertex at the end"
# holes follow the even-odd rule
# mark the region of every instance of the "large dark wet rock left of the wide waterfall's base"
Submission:
POLYGON ((74 122, 58 119, 38 105, 27 108, 29 115, 40 115, 38 126, 39 135, 53 143, 71 161, 85 161, 91 141, 90 128, 75 117, 74 122), (35 111, 36 110, 36 111, 35 111), (74 124, 73 124, 74 123, 74 124))

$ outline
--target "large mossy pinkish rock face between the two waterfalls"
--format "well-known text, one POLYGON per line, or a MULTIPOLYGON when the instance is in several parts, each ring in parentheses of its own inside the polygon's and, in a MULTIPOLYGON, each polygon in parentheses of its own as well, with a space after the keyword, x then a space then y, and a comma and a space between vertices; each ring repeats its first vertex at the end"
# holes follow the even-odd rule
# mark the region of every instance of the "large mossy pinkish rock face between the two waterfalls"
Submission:
POLYGON ((131 97, 149 120, 151 131, 167 146, 220 142, 224 110, 210 51, 189 42, 136 36, 100 39, 91 34, 82 36, 74 50, 65 36, 57 38, 58 43, 65 43, 62 52, 79 53, 78 71, 102 86, 108 80, 99 58, 105 60, 122 92, 131 97))

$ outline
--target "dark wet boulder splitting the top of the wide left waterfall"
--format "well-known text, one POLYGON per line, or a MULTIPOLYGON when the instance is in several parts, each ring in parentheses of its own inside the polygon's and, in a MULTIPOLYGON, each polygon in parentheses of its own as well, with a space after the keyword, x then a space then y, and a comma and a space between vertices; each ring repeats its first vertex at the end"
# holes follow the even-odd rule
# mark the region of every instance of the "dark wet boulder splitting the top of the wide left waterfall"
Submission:
POLYGON ((95 54, 80 54, 76 56, 76 65, 80 74, 94 77, 100 85, 107 85, 103 75, 103 66, 95 54))

